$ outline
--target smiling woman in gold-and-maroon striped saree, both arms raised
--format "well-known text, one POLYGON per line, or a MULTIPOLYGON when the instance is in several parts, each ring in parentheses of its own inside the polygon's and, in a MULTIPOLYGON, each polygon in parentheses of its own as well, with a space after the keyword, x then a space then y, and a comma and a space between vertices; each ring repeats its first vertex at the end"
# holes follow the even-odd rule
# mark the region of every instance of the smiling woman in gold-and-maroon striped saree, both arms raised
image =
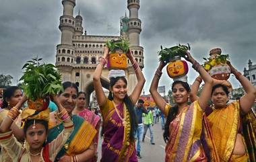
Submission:
POLYGON ((210 99, 213 80, 189 51, 185 58, 193 64, 195 71, 205 81, 201 92, 202 97, 189 105, 189 84, 184 81, 174 81, 172 96, 176 106, 171 107, 167 104, 157 91, 162 69, 165 66, 162 61, 160 61, 150 86, 150 93, 156 105, 166 116, 164 126, 164 140, 167 142, 165 161, 219 161, 207 124, 203 122, 203 112, 207 106, 207 100, 210 99))

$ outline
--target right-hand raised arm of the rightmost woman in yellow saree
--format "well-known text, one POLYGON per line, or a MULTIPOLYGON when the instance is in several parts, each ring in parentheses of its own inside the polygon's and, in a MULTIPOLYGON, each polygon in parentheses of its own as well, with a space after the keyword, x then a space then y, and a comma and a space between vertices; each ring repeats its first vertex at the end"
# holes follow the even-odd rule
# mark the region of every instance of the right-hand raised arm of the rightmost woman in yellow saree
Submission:
POLYGON ((231 73, 234 74, 236 79, 241 83, 241 85, 245 89, 246 94, 243 95, 243 97, 241 97, 240 106, 241 106, 242 112, 247 114, 251 110, 251 108, 254 104, 255 96, 256 96, 256 89, 255 89, 255 87, 253 87, 251 82, 245 76, 243 76, 239 71, 237 71, 230 64, 230 62, 228 62, 228 65, 230 67, 231 73))

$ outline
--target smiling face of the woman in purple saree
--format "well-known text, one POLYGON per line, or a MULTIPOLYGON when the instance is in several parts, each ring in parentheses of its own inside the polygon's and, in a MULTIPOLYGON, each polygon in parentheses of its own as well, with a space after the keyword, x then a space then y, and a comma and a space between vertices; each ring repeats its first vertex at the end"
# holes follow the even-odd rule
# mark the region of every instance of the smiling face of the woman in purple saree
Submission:
POLYGON ((117 98, 117 99, 124 99, 125 95, 127 94, 127 84, 125 83, 125 81, 123 81, 122 79, 119 79, 115 85, 113 85, 112 88, 110 88, 110 90, 113 93, 113 97, 117 98))

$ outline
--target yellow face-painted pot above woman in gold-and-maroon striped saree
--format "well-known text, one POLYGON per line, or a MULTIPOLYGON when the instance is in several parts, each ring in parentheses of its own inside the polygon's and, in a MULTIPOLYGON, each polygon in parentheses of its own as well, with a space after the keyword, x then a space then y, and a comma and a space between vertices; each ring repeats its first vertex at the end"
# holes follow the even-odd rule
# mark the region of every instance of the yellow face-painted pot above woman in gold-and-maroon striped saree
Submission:
POLYGON ((174 60, 166 67, 166 71, 170 78, 175 79, 187 75, 189 67, 185 60, 181 60, 180 56, 175 56, 174 60))

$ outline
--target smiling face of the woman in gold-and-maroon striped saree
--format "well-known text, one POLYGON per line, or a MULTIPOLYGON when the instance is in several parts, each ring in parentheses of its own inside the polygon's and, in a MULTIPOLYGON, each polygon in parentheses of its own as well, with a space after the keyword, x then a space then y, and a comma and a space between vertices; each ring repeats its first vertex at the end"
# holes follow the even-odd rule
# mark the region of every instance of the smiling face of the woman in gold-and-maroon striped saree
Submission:
POLYGON ((174 97, 174 102, 176 104, 183 104, 185 102, 188 102, 189 100, 189 93, 187 92, 185 87, 183 87, 183 85, 179 83, 174 85, 172 89, 172 96, 174 97))

